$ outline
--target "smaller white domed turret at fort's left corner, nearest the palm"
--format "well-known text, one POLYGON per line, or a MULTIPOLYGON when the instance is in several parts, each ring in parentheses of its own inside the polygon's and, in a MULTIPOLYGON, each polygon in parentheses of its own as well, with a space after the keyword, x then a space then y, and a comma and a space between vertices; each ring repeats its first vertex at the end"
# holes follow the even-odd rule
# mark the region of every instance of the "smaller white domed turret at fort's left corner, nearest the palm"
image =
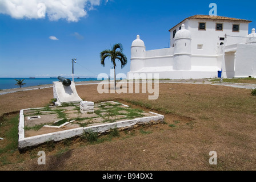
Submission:
POLYGON ((131 68, 130 71, 138 71, 144 67, 144 61, 146 53, 146 47, 143 42, 137 35, 137 39, 131 44, 131 68))

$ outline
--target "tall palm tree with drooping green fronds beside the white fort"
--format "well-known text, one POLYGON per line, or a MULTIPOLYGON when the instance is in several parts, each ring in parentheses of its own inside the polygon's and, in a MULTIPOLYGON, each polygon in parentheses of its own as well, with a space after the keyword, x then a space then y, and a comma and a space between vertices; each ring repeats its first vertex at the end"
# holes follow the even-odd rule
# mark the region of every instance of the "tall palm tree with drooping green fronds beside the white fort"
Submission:
MULTIPOLYGON (((107 57, 111 58, 111 62, 113 63, 114 66, 114 81, 115 81, 115 67, 117 66, 115 64, 115 60, 118 59, 121 62, 121 68, 123 68, 127 64, 127 58, 123 54, 123 46, 122 44, 114 44, 111 49, 105 49, 104 51, 101 52, 101 64, 103 67, 105 67, 105 59, 107 57), (118 50, 119 49, 119 50, 118 50)), ((115 82, 114 82, 115 85, 115 82)))

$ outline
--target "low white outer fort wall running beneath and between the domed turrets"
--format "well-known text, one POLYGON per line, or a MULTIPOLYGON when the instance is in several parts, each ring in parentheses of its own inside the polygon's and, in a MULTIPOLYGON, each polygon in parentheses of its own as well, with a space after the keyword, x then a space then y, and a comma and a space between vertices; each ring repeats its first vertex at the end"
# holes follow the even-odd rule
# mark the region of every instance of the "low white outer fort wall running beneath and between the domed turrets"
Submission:
MULTIPOLYGON (((222 55, 191 55, 190 71, 174 71, 174 48, 145 51, 145 57, 131 58, 129 73, 159 73, 159 78, 190 79, 217 77, 222 55), (183 73, 182 73, 183 72, 183 73)), ((127 75, 129 78, 129 73, 127 75)))

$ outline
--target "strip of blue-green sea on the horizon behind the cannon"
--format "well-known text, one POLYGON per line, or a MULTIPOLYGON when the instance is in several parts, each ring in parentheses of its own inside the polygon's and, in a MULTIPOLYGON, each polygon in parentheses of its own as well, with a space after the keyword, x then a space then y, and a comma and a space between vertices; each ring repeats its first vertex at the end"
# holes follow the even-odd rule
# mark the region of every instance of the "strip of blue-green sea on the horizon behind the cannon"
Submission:
MULTIPOLYGON (((38 85, 47 85, 47 84, 53 84, 53 81, 59 81, 58 78, 50 77, 50 78, 0 78, 0 90, 4 89, 13 89, 13 88, 19 88, 19 86, 15 85, 17 81, 15 79, 23 80, 23 83, 26 83, 25 85, 22 85, 22 88, 25 88, 27 86, 38 86, 38 85)), ((72 78, 69 78, 72 80, 72 78)), ((74 78, 74 82, 81 82, 81 81, 95 81, 97 78, 74 78)))

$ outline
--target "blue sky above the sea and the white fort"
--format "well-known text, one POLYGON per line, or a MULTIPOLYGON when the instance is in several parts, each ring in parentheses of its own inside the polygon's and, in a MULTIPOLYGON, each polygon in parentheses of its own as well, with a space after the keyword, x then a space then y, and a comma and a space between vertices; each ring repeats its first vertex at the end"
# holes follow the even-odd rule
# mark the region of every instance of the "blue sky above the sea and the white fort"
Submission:
POLYGON ((109 75, 110 60, 102 67, 99 53, 115 43, 123 44, 128 59, 123 69, 117 64, 117 73, 126 74, 130 46, 138 34, 146 50, 168 47, 168 30, 189 16, 209 14, 210 3, 217 4, 219 16, 248 19, 253 21, 249 32, 256 28, 254 1, 65 1, 70 8, 46 1, 46 16, 38 18, 39 8, 33 5, 43 0, 21 0, 17 6, 22 10, 11 9, 7 0, 0 0, 0 77, 71 77, 73 58, 77 59, 75 77, 109 75))

